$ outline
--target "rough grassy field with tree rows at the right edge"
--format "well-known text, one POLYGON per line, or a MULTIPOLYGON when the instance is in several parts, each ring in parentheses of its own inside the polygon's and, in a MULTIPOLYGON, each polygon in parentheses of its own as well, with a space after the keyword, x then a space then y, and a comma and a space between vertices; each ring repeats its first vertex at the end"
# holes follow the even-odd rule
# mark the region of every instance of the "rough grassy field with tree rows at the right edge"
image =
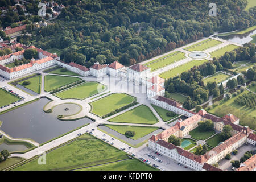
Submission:
POLYGON ((245 90, 236 97, 232 96, 232 98, 227 101, 222 99, 221 101, 218 101, 218 106, 214 107, 213 109, 207 108, 207 111, 217 115, 218 117, 223 117, 224 115, 231 113, 240 119, 240 125, 249 126, 251 129, 256 130, 256 110, 250 107, 238 105, 236 102, 234 102, 237 97, 248 92, 248 90, 245 90))

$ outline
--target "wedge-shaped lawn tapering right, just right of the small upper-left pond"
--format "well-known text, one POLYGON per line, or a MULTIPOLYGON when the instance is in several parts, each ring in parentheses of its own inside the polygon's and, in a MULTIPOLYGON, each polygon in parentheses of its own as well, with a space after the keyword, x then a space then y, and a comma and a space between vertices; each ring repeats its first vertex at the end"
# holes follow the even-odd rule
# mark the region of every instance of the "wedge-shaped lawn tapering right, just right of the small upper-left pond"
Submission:
POLYGON ((79 80, 81 79, 77 77, 46 75, 44 77, 44 90, 46 92, 49 92, 51 90, 60 88, 61 86, 65 86, 79 80))

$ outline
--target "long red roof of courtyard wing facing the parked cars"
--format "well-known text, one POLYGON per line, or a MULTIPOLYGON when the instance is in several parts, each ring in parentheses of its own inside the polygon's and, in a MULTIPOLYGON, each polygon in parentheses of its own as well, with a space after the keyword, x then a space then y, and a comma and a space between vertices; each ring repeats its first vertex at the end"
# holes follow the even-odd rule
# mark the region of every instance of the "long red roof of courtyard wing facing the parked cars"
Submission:
POLYGON ((159 144, 160 146, 168 148, 169 150, 176 149, 179 155, 182 155, 185 158, 196 161, 200 164, 203 164, 207 161, 203 155, 198 156, 198 155, 192 154, 191 152, 188 152, 188 151, 184 150, 183 148, 177 147, 174 144, 168 143, 164 140, 158 140, 156 143, 159 144))

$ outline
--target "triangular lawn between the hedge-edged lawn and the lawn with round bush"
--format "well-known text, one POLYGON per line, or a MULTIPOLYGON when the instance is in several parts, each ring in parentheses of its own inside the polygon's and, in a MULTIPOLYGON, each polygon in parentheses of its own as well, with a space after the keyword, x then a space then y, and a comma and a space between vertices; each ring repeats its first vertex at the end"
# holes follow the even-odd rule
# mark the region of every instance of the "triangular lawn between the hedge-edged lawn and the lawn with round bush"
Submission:
POLYGON ((140 105, 114 117, 109 119, 110 122, 119 122, 119 123, 143 123, 143 124, 155 124, 158 122, 158 119, 152 113, 150 108, 146 105, 140 105))

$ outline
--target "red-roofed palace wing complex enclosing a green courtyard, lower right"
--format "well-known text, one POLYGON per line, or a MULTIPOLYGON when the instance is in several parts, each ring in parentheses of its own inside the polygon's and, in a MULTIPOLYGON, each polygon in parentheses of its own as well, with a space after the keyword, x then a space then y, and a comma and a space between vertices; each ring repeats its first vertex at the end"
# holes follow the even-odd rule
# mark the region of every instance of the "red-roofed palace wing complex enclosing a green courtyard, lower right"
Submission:
POLYGON ((225 158, 226 154, 230 154, 236 148, 245 143, 255 145, 256 135, 252 133, 252 130, 249 127, 240 126, 239 119, 232 114, 227 114, 223 118, 218 118, 212 114, 208 114, 203 109, 198 113, 194 113, 184 109, 182 105, 176 101, 162 96, 153 97, 151 103, 174 113, 185 115, 188 118, 184 121, 179 119, 176 124, 169 129, 164 130, 158 135, 152 135, 148 140, 148 147, 191 169, 202 171, 220 170, 213 167, 212 164, 215 164, 219 160, 225 158), (225 125, 232 126, 232 137, 221 142, 218 146, 214 147, 204 155, 195 155, 179 146, 168 143, 168 137, 170 137, 170 135, 183 138, 188 135, 189 131, 198 126, 198 122, 205 121, 207 119, 213 121, 214 129, 218 131, 222 131, 225 125))

